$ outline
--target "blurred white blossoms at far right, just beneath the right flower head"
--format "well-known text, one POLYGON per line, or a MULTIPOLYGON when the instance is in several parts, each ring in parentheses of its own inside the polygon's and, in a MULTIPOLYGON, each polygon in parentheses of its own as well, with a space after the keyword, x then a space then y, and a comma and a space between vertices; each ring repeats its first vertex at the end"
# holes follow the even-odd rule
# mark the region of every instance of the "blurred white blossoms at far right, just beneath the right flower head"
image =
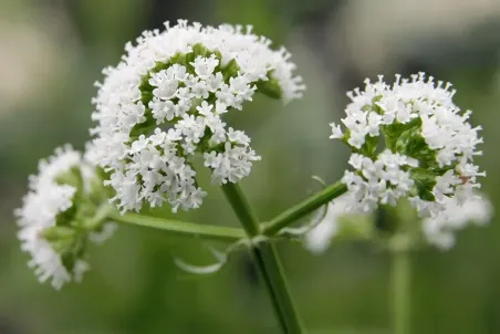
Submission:
POLYGON ((455 231, 466 228, 469 223, 483 226, 491 219, 491 203, 479 196, 467 200, 462 206, 452 198, 446 198, 445 201, 442 212, 423 221, 427 241, 442 250, 455 246, 455 231))

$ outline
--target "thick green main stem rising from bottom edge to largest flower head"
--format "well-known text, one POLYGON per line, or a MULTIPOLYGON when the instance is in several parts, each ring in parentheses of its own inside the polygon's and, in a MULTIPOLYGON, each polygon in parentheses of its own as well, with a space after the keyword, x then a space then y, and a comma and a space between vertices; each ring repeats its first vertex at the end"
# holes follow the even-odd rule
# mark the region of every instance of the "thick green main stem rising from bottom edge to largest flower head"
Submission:
MULTIPOLYGON (((248 238, 253 239, 260 236, 259 219, 240 187, 237 184, 227 184, 222 186, 222 190, 241 221, 248 238)), ((269 242, 259 242, 252 246, 252 254, 271 296, 282 332, 285 334, 303 333, 275 247, 269 242)))

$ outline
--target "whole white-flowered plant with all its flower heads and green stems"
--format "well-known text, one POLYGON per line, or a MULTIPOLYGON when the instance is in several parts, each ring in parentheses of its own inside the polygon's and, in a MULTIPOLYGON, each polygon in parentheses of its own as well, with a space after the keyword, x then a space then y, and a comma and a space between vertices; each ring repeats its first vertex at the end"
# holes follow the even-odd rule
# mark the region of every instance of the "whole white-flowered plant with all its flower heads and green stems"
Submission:
MULTIPOLYGON (((212 28, 184 20, 165 25, 127 43, 122 61, 103 71, 86 150, 58 148, 30 177, 15 216, 22 250, 31 255, 29 265, 40 281, 55 289, 80 281, 90 268, 87 248, 112 237, 116 223, 221 240, 230 246, 227 253, 216 253, 220 263, 179 267, 194 273, 218 270, 229 252, 249 249, 281 331, 303 333, 275 240, 303 237, 306 248, 321 252, 347 230, 350 238, 377 239, 373 212, 384 209, 396 226, 392 238, 384 239, 389 249, 406 251, 421 236, 450 248, 455 229, 468 220, 488 220, 489 206, 476 191, 478 177, 485 176, 473 163, 482 143, 480 127, 472 127, 470 112, 454 104, 450 84, 419 73, 397 75, 393 85, 379 76, 375 83, 367 80, 364 91, 350 92, 344 126, 332 124, 331 138, 352 149, 353 170, 261 221, 238 186, 261 157, 250 137, 223 118, 244 109, 258 93, 284 103, 300 98, 305 86, 293 74, 295 64, 285 49, 272 49, 251 27, 212 28), (207 194, 197 182, 196 156, 221 187, 242 229, 142 213, 144 205, 169 206, 173 212, 202 205, 207 194), (313 212, 310 225, 291 228, 313 212)), ((405 326, 406 320, 395 331, 404 333, 405 326)))

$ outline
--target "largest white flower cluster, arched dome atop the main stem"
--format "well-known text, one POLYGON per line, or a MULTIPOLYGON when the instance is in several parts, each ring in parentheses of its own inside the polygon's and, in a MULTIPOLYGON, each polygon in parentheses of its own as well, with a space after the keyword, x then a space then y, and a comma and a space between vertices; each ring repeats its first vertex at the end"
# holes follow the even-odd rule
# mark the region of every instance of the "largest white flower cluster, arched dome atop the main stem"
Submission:
POLYGON ((201 153, 217 185, 237 182, 260 159, 243 132, 221 116, 262 92, 285 102, 304 86, 290 54, 251 29, 179 21, 146 31, 116 67, 103 71, 94 98, 98 125, 91 158, 111 173, 122 211, 168 201, 173 211, 197 208, 206 192, 189 158, 201 153))

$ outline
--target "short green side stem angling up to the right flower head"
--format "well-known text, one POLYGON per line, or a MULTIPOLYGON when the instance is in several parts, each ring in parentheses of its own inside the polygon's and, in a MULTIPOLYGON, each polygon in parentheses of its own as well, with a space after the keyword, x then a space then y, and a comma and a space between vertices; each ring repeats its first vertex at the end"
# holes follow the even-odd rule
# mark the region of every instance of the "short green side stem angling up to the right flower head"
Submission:
POLYGON ((264 236, 274 236, 275 233, 281 231, 281 229, 288 227, 289 225, 306 216, 308 213, 311 213, 317 208, 321 208, 329 201, 337 198, 346 191, 347 187, 343 182, 335 182, 269 220, 264 225, 262 233, 264 236))

